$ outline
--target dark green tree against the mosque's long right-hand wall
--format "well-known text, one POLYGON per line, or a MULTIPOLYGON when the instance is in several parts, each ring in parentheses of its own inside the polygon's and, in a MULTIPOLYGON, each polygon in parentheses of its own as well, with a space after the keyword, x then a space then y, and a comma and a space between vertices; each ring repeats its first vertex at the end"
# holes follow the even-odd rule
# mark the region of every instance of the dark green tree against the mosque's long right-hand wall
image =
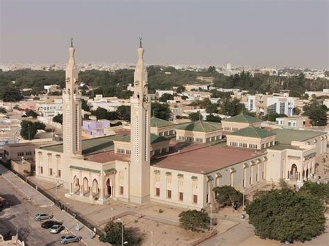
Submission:
POLYGON ((234 202, 242 205, 243 202, 243 194, 237 191, 232 186, 220 186, 214 188, 214 192, 217 194, 216 200, 221 206, 232 206, 234 202))

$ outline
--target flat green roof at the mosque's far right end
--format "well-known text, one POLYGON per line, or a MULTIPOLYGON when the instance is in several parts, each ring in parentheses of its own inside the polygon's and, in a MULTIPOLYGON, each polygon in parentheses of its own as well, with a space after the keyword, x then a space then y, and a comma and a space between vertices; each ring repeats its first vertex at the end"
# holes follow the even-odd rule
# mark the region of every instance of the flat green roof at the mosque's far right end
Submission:
POLYGON ((282 144, 290 144, 292 141, 307 141, 308 139, 326 134, 326 132, 294 129, 278 129, 272 132, 276 133, 276 141, 282 144))

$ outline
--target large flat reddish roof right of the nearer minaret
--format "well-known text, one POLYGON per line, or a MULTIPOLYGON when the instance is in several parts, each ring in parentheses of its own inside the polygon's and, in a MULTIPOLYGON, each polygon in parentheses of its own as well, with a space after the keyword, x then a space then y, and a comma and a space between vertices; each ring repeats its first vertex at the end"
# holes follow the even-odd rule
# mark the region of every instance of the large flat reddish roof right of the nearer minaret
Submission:
POLYGON ((208 146, 181 151, 161 159, 153 159, 152 166, 207 174, 262 155, 264 152, 255 152, 255 150, 208 146))

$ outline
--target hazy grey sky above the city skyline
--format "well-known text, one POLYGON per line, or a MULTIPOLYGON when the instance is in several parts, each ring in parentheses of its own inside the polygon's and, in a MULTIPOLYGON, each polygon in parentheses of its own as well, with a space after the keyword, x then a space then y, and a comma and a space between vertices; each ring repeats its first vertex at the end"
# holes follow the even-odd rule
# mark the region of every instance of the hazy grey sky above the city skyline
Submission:
POLYGON ((0 62, 328 68, 328 1, 0 0, 0 62))

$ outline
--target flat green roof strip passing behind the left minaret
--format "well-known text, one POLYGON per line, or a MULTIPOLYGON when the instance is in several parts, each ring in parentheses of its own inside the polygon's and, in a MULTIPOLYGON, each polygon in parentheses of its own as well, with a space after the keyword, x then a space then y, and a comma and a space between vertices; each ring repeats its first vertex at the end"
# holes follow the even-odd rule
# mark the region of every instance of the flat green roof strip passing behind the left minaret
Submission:
MULTIPOLYGON (((106 137, 98 137, 95 139, 84 139, 82 141, 82 154, 90 155, 96 154, 98 152, 103 152, 107 150, 113 150, 114 144, 113 140, 118 139, 117 136, 106 136, 106 137)), ((62 143, 56 144, 54 146, 45 146, 41 147, 43 150, 55 151, 55 152, 63 152, 62 143)))

